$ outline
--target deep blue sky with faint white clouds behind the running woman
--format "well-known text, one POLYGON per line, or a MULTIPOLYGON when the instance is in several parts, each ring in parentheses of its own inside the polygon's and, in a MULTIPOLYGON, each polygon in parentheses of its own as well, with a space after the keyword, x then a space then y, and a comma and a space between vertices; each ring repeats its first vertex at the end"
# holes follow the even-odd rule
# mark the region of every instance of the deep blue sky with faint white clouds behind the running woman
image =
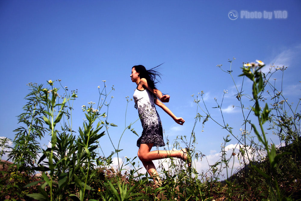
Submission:
MULTIPOLYGON (((238 105, 231 77, 216 67, 223 64, 223 69, 229 70, 228 58, 236 58, 232 70, 238 86, 242 62, 259 59, 267 66, 288 66, 284 89, 296 102, 300 97, 300 8, 300 1, 1 1, 0 136, 14 138, 16 116, 26 104, 27 83, 46 86, 46 80, 61 79, 69 90, 77 89, 79 98, 73 105, 77 129, 84 117, 81 105, 97 102, 97 86, 106 80, 109 88, 115 88, 108 120, 118 125, 109 129, 118 143, 125 123, 125 97, 131 98, 136 87, 129 76, 137 64, 153 68, 164 62, 157 88, 171 96, 166 105, 185 119, 179 126, 158 109, 169 140, 190 135, 196 115, 192 94, 203 90, 211 115, 219 121, 219 111, 211 107, 216 106, 215 97, 220 103, 223 90, 229 92, 223 109, 238 105), (237 11, 236 20, 228 17, 231 10, 237 11), (242 11, 272 12, 272 19, 241 18, 242 11), (287 16, 276 18, 274 11, 287 16)), ((281 74, 274 77, 280 80, 281 74)), ((247 84, 246 90, 250 89, 247 84)), ((241 114, 228 109, 224 117, 238 135, 241 114)), ((134 102, 130 102, 126 123, 137 118, 134 102)), ((133 127, 141 133, 140 121, 133 127)), ((197 124, 197 149, 208 156, 218 153, 228 133, 212 121, 201 130, 197 124)), ((122 156, 136 155, 137 139, 125 132, 122 156)), ((113 150, 107 135, 101 138, 101 147, 106 155, 113 150)))

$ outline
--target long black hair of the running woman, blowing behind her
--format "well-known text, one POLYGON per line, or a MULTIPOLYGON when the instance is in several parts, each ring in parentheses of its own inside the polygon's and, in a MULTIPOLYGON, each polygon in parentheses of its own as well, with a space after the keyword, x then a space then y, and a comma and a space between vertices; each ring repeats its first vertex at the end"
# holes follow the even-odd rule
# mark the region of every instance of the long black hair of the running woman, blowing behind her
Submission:
MULTIPOLYGON (((160 64, 162 65, 162 64, 160 64)), ((157 67, 159 67, 160 65, 151 68, 149 70, 146 70, 146 68, 143 65, 137 65, 137 66, 133 66, 132 68, 135 68, 136 72, 139 73, 139 77, 141 78, 145 78, 147 81, 147 85, 149 87, 151 87, 151 89, 156 90, 156 84, 159 82, 159 80, 157 79, 158 77, 161 79, 161 73, 159 73, 158 71, 154 70, 157 67), (158 80, 156 82, 156 80, 158 80)), ((154 102, 156 102, 157 97, 154 95, 154 102)))

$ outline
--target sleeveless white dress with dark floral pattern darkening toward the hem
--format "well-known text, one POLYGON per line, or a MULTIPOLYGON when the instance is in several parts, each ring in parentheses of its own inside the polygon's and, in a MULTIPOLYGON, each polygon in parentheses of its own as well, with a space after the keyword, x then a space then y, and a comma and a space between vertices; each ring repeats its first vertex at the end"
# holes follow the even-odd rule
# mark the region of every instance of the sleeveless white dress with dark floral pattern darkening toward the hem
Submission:
POLYGON ((153 146, 165 146, 163 140, 162 123, 154 103, 154 94, 148 89, 138 90, 138 86, 133 95, 135 108, 142 124, 142 135, 137 140, 137 146, 140 144, 154 143, 153 146))

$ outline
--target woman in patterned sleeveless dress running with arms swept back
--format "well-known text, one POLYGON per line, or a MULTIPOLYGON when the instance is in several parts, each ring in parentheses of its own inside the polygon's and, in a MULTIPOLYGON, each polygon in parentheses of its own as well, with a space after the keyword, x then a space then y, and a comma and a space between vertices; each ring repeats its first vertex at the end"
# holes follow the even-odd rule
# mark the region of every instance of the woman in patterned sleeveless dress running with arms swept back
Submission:
MULTIPOLYGON (((157 68, 157 67, 155 67, 157 68)), ((155 184, 160 182, 153 160, 165 159, 167 157, 176 157, 182 160, 188 160, 186 149, 181 150, 159 150, 151 151, 153 146, 165 146, 163 141, 162 124, 155 104, 162 108, 175 122, 184 124, 184 119, 176 117, 162 102, 169 102, 170 96, 162 95, 155 86, 156 76, 160 74, 154 70, 146 70, 144 66, 137 65, 132 67, 131 80, 137 84, 133 95, 135 108, 138 108, 139 117, 143 127, 142 135, 137 140, 138 157, 146 168, 147 172, 153 177, 155 184)), ((190 163, 188 163, 190 166, 190 163)))

